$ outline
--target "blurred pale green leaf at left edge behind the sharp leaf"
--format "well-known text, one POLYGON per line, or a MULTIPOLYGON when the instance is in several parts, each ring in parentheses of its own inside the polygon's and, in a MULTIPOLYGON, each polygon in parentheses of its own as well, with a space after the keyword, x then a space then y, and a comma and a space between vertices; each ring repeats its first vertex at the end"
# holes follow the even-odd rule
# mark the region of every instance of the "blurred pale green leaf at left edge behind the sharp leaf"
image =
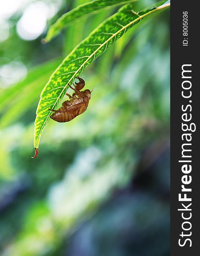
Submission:
POLYGON ((0 95, 0 128, 16 121, 37 102, 43 85, 62 59, 57 58, 31 70, 26 79, 0 95), (19 93, 20 92, 20 93, 19 93))

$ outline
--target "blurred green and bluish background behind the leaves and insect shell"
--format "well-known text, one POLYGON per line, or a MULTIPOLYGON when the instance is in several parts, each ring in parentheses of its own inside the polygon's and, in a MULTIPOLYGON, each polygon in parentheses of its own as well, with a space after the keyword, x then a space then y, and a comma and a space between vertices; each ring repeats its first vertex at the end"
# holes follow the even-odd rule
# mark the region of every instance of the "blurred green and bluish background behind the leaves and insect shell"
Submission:
MULTIPOLYGON (((0 255, 169 255, 169 10, 84 70, 83 115, 49 120, 34 155, 40 92, 62 59, 117 8, 47 28, 85 0, 0 8, 0 255)), ((134 3, 135 11, 153 0, 134 3)), ((69 90, 70 92, 70 90, 69 90)), ((63 99, 63 101, 66 98, 63 99)))

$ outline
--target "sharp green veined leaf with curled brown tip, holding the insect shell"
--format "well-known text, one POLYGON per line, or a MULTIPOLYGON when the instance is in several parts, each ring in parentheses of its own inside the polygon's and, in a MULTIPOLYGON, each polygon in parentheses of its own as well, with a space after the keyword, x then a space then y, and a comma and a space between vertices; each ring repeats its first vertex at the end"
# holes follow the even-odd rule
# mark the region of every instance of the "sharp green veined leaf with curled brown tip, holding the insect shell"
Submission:
POLYGON ((170 3, 138 13, 132 10, 131 4, 123 6, 116 14, 100 24, 63 60, 51 75, 40 96, 35 120, 34 148, 36 154, 34 157, 37 156, 40 137, 51 114, 49 108, 55 109, 57 107, 58 102, 60 102, 68 89, 68 83, 72 84, 75 77, 80 76, 84 68, 88 67, 94 59, 103 54, 111 44, 123 36, 132 26, 151 13, 168 6, 170 6, 170 3))

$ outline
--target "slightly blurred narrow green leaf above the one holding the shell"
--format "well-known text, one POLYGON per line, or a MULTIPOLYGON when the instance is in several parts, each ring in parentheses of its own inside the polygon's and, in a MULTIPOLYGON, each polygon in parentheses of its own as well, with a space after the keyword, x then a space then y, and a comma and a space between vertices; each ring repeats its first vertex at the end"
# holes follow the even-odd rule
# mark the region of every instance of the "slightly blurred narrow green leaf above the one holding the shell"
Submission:
POLYGON ((94 0, 89 3, 84 3, 77 8, 62 15, 52 26, 50 26, 46 37, 43 39, 44 43, 51 41, 56 37, 62 29, 70 25, 74 20, 100 12, 103 9, 111 8, 113 6, 123 5, 125 3, 134 2, 137 0, 94 0))

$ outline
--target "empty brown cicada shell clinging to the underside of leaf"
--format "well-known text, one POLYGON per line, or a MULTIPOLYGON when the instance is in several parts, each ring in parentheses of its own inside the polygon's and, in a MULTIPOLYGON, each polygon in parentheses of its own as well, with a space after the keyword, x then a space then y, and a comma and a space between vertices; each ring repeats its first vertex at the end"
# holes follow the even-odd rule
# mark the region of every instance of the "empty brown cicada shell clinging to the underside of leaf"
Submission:
POLYGON ((69 96, 69 100, 63 102, 62 107, 58 110, 49 109, 55 112, 50 116, 54 121, 69 122, 86 111, 91 98, 91 91, 89 89, 80 91, 85 86, 85 81, 78 76, 76 78, 79 82, 73 84, 74 88, 68 84, 69 87, 75 91, 72 96, 66 93, 66 95, 69 96))

